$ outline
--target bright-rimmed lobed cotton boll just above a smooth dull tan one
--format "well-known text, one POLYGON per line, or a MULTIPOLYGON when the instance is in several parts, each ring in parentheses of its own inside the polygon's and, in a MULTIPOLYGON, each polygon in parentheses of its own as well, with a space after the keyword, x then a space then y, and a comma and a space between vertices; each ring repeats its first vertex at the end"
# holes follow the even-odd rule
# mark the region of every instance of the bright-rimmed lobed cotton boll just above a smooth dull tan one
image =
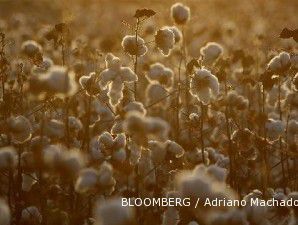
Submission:
POLYGON ((173 71, 161 63, 154 63, 150 65, 149 71, 147 73, 147 77, 150 81, 158 81, 165 87, 172 86, 173 76, 173 71))

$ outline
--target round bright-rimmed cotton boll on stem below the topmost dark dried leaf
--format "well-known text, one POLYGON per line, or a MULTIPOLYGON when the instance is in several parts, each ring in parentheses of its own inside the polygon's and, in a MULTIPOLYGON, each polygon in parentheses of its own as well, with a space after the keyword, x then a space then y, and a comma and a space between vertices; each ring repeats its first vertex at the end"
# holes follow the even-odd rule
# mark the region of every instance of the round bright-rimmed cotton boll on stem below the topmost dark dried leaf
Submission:
POLYGON ((127 52, 129 55, 143 56, 147 52, 145 41, 139 36, 136 41, 136 36, 126 35, 123 38, 121 45, 124 52, 127 52))

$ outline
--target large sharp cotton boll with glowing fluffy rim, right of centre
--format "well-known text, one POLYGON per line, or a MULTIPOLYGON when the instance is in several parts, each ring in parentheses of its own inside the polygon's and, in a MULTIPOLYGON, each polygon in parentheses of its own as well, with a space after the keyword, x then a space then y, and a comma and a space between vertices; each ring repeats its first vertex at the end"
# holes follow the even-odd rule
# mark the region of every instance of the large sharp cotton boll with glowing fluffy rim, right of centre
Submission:
POLYGON ((212 97, 219 93, 219 83, 207 69, 197 70, 190 80, 190 93, 204 104, 208 104, 212 97))

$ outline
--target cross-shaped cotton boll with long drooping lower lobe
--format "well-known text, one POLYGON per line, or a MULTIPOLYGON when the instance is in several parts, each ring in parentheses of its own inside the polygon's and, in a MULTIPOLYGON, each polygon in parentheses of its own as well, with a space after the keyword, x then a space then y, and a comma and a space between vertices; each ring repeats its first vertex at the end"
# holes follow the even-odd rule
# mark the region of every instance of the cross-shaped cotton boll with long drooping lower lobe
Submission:
POLYGON ((111 53, 106 56, 106 65, 99 75, 99 84, 102 88, 108 86, 110 103, 115 106, 123 98, 124 83, 137 81, 138 77, 129 67, 121 66, 120 59, 111 53))

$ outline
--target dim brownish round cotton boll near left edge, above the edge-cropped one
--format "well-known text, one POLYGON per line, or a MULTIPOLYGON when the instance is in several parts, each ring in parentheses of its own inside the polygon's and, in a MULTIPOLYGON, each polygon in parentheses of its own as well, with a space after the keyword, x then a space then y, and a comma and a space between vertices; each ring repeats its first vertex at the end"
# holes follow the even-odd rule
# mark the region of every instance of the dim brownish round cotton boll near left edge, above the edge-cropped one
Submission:
POLYGON ((32 136, 32 126, 30 121, 24 116, 16 116, 8 119, 8 127, 12 137, 12 142, 22 144, 32 136))

